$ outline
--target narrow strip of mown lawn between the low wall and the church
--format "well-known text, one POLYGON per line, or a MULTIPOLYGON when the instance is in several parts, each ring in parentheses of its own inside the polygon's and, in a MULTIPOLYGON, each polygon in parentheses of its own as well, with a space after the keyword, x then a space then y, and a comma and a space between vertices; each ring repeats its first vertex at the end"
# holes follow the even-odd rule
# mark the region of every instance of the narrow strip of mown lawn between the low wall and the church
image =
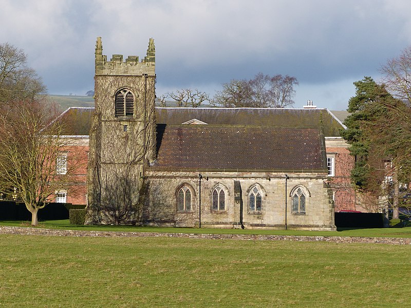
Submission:
MULTIPOLYGON (((393 223, 397 227, 374 229, 338 229, 335 231, 298 231, 298 230, 250 230, 250 229, 209 229, 209 228, 164 228, 164 227, 135 227, 135 226, 85 226, 72 225, 69 220, 41 221, 39 227, 71 230, 101 230, 121 232, 161 232, 161 233, 207 233, 207 234, 269 234, 269 235, 304 235, 304 236, 362 236, 362 237, 411 237, 411 223, 399 227, 400 221, 393 223)), ((1 221, 0 226, 29 226, 30 222, 1 221)))

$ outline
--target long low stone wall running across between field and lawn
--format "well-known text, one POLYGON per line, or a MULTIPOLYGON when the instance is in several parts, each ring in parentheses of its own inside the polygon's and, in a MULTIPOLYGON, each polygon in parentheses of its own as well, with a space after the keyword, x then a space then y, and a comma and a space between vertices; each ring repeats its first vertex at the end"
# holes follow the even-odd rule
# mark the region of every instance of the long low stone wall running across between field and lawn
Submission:
POLYGON ((173 238, 219 239, 219 240, 230 239, 230 240, 303 241, 303 242, 324 241, 324 242, 333 242, 333 243, 377 243, 377 244, 392 244, 392 245, 411 245, 411 238, 111 232, 111 231, 58 230, 58 229, 42 229, 42 228, 31 228, 31 227, 7 227, 7 226, 0 226, 0 234, 74 236, 74 237, 173 237, 173 238))

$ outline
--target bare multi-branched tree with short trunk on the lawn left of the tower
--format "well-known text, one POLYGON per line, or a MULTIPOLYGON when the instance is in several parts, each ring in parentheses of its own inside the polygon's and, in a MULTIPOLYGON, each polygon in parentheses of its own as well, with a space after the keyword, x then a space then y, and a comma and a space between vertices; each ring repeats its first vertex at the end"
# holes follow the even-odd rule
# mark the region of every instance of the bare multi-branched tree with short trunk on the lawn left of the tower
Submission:
POLYGON ((62 124, 53 121, 58 112, 50 103, 13 101, 0 109, 0 192, 13 191, 30 211, 31 224, 35 226, 39 209, 72 181, 77 160, 72 157, 70 165, 57 165, 59 153, 67 150, 68 140, 61 137, 62 124), (58 172, 59 168, 62 171, 58 172))

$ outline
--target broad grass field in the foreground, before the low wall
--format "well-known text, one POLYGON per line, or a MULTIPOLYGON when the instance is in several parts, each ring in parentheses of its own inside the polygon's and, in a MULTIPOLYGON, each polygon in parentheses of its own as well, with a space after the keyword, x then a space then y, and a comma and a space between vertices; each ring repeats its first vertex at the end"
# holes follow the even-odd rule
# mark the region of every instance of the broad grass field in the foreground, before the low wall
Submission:
POLYGON ((0 235, 5 307, 393 307, 411 246, 0 235))

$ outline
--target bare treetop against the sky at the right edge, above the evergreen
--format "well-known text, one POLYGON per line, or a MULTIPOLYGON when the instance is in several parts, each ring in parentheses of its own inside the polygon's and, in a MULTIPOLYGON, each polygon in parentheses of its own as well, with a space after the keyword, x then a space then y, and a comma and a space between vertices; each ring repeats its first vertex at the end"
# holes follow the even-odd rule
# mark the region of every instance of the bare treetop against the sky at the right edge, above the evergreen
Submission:
POLYGON ((411 46, 381 67, 382 83, 394 97, 411 104, 411 46))

